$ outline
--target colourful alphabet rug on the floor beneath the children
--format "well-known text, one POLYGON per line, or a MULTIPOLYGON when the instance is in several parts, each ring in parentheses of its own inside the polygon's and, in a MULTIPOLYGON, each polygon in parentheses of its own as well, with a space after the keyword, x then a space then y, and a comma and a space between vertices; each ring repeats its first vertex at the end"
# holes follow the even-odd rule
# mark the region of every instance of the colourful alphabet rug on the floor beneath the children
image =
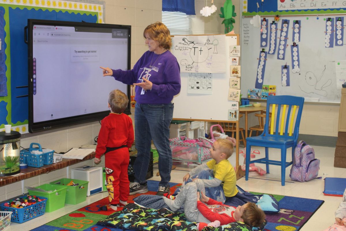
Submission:
MULTIPOLYGON (((170 183, 171 192, 174 192, 181 184, 170 183)), ((146 194, 155 195, 158 188, 158 181, 148 180, 148 190, 146 194)), ((253 194, 262 194, 251 192, 253 194)), ((271 194, 273 195, 273 194, 271 194)), ((132 195, 128 202, 133 202, 133 198, 138 195, 132 195)), ((318 210, 324 201, 316 199, 308 199, 301 197, 273 195, 279 202, 280 212, 274 214, 266 214, 267 225, 265 231, 274 230, 300 230, 302 226, 310 219, 310 217, 318 210)), ((122 229, 110 228, 96 223, 105 219, 112 212, 100 211, 100 207, 107 204, 108 197, 97 202, 87 205, 79 210, 64 215, 54 221, 48 222, 33 231, 121 231, 122 229)), ((121 208, 119 208, 121 210, 121 208)))

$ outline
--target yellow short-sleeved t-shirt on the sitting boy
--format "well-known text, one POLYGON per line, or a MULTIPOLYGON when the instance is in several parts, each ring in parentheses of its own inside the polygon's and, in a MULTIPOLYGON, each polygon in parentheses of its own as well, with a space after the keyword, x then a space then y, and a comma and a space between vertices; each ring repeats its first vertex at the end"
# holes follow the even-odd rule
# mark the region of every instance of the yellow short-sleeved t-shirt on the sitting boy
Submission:
POLYGON ((225 196, 232 197, 238 193, 236 172, 228 160, 221 160, 218 164, 215 160, 210 160, 207 166, 213 170, 214 177, 224 184, 225 196))

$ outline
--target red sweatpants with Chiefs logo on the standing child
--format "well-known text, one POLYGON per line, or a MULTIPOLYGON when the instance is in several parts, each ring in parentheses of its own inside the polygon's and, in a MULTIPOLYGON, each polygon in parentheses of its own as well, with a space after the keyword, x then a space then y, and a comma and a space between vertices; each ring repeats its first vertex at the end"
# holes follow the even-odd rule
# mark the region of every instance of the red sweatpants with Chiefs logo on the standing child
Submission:
POLYGON ((109 204, 127 201, 130 193, 130 181, 127 168, 129 166, 128 148, 120 148, 105 154, 106 180, 109 204))

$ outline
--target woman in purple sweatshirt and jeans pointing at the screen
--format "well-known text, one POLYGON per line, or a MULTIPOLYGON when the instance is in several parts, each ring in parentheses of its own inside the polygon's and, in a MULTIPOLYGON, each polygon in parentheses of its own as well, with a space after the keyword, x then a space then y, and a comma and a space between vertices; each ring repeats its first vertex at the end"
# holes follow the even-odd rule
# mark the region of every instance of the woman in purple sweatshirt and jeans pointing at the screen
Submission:
POLYGON ((150 161, 151 141, 158 152, 158 170, 161 181, 156 195, 170 193, 172 151, 170 124, 173 118, 172 99, 180 92, 180 67, 169 51, 172 46, 169 29, 160 22, 144 29, 143 36, 149 51, 145 52, 132 70, 103 68, 103 76, 136 86, 135 180, 130 185, 130 195, 148 192, 146 175, 150 161))

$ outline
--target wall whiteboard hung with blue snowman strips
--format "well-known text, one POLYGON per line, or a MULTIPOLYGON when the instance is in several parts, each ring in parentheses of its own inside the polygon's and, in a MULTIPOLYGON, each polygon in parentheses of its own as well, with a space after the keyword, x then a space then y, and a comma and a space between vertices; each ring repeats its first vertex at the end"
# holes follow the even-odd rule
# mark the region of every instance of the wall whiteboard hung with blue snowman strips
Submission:
MULTIPOLYGON (((338 16, 329 16, 336 18, 338 16)), ((346 44, 335 46, 333 48, 325 47, 326 39, 326 21, 327 16, 281 16, 278 28, 284 19, 290 20, 288 29, 289 45, 285 49, 285 59, 277 59, 278 44, 274 54, 267 54, 263 85, 276 85, 276 95, 294 95, 305 97, 306 101, 333 102, 340 103, 341 89, 337 88, 337 76, 335 64, 338 61, 346 60, 346 44), (318 19, 317 19, 318 18, 318 19), (301 20, 301 32, 299 45, 299 73, 293 73, 291 45, 293 37, 293 20, 301 20), (290 86, 282 86, 281 66, 290 66, 290 86), (307 80, 315 80, 316 84, 307 80), (329 85, 329 86, 327 86, 329 85)), ((260 28, 254 27, 249 18, 242 18, 241 28, 241 56, 242 56, 242 82, 241 90, 243 96, 249 88, 255 88, 258 68, 259 53, 262 48, 269 50, 268 46, 260 47, 260 28)), ((272 23, 273 17, 266 17, 268 22, 272 23)), ((261 17, 261 20, 263 18, 261 17)), ((345 23, 344 23, 345 24, 345 23)), ((336 34, 336 33, 334 33, 336 34)), ((345 33, 344 33, 345 35, 345 33)), ((280 36, 280 30, 277 31, 277 37, 280 36)), ((280 39, 276 38, 279 43, 280 39)), ((344 39, 345 41, 345 39, 344 39)))

